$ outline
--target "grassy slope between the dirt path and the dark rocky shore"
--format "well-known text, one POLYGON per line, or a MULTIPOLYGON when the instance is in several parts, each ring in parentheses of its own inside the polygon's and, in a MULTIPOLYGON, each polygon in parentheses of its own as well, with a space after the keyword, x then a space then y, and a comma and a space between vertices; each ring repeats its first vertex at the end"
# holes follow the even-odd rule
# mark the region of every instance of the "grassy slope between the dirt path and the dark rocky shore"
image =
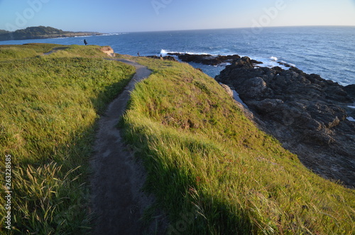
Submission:
POLYGON ((126 139, 170 234, 353 234, 354 190, 324 180, 258 130, 214 79, 187 64, 137 58, 126 139))

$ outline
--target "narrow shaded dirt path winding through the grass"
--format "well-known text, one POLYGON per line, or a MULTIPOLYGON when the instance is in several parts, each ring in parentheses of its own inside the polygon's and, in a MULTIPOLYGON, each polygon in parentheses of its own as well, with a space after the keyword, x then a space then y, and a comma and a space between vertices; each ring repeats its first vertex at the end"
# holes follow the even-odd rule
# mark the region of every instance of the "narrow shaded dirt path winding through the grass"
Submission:
POLYGON ((145 180, 143 167, 126 150, 116 125, 126 110, 134 85, 151 71, 136 62, 116 60, 136 67, 136 74, 99 120, 92 159, 92 209, 97 215, 93 234, 136 235, 143 233, 138 219, 151 202, 140 190, 145 180))

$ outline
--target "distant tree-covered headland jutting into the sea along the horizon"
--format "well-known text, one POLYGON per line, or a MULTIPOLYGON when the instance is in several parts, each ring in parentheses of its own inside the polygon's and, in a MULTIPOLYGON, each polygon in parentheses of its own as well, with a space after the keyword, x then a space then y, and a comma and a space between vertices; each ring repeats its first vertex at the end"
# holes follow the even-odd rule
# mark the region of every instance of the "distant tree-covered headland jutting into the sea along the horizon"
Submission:
POLYGON ((102 35, 102 33, 71 32, 71 31, 63 31, 58 28, 38 26, 38 27, 28 27, 26 29, 16 30, 14 32, 10 32, 7 30, 0 30, 0 41, 45 39, 45 38, 70 38, 70 37, 91 36, 91 35, 102 35))

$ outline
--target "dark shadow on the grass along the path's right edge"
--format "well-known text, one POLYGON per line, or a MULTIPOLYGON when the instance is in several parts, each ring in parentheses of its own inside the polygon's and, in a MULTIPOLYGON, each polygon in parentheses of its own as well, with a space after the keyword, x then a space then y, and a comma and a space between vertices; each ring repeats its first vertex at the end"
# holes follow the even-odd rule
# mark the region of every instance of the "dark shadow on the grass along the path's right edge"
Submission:
MULTIPOLYGON (((123 127, 121 121, 119 127, 123 127)), ((150 137, 131 133, 124 127, 124 139, 136 147, 136 157, 143 161, 148 173, 144 190, 157 198, 159 209, 168 213, 167 234, 256 234, 251 213, 231 208, 216 195, 204 193, 203 185, 189 170, 176 164, 167 166, 148 147, 150 137), (139 141, 137 141, 139 139, 139 141)), ((153 137, 154 138, 154 137, 153 137)))

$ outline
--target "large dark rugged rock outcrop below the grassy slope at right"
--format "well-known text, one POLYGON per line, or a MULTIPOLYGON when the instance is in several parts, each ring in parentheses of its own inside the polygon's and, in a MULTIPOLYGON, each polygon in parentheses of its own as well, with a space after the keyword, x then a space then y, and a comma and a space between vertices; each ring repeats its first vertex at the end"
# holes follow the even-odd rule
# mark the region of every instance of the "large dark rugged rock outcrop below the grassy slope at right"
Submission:
POLYGON ((355 122, 346 120, 354 85, 344 88, 295 67, 254 68, 248 57, 236 59, 216 79, 234 86, 261 129, 305 166, 355 187, 355 122))

